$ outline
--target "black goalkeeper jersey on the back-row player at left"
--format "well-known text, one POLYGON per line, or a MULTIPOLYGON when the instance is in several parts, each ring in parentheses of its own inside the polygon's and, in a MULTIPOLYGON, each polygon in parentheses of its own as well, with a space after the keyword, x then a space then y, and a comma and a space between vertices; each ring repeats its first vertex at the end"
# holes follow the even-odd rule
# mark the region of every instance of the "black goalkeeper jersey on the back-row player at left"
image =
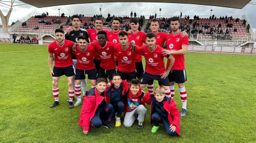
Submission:
MULTIPOLYGON (((78 42, 77 38, 80 35, 86 36, 87 42, 90 43, 88 32, 86 31, 86 29, 81 29, 81 28, 79 29, 79 31, 74 31, 72 29, 72 31, 70 31, 69 34, 65 34, 65 39, 68 39, 69 41, 73 41, 73 42, 77 43, 78 42)), ((76 59, 75 54, 73 54, 73 53, 71 53, 71 54, 72 54, 72 59, 76 59)))

